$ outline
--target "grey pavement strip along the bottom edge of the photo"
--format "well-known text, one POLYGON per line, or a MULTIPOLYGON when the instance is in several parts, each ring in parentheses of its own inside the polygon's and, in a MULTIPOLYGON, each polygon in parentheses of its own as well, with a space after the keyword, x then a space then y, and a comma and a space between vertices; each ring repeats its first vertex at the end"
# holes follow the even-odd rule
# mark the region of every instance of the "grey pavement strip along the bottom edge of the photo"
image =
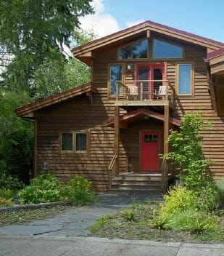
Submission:
POLYGON ((223 256, 222 244, 0 235, 0 256, 223 256))

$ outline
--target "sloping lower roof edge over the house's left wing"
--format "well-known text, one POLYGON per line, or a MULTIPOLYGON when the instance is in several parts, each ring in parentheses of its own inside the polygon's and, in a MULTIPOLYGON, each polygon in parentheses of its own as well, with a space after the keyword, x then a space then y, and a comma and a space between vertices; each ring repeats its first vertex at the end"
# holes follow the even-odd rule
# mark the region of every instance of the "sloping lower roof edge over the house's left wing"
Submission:
POLYGON ((87 84, 82 84, 78 87, 73 87, 65 92, 57 93, 56 95, 51 95, 49 97, 45 97, 41 100, 36 100, 33 103, 29 103, 28 105, 23 105, 20 108, 17 108, 15 112, 17 116, 33 118, 33 112, 37 111, 41 108, 46 108, 49 105, 53 105, 56 103, 61 103, 62 101, 69 100, 72 97, 82 95, 83 93, 88 92, 96 92, 97 88, 91 82, 87 84))

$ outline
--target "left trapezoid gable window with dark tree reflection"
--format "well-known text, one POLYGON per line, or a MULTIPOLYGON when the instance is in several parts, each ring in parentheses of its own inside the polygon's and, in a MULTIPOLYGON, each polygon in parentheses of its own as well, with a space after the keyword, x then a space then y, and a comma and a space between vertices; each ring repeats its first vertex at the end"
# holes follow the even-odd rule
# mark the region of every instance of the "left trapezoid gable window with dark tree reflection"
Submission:
POLYGON ((137 41, 127 47, 119 49, 119 59, 146 59, 148 58, 148 39, 137 41))

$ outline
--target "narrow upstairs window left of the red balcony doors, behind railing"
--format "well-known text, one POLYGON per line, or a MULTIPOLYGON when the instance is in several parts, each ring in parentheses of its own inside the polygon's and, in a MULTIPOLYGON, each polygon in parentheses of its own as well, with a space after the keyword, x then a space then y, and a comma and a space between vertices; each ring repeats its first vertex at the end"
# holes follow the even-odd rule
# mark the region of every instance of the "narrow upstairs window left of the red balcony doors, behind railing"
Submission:
MULTIPOLYGON (((110 65, 109 66, 109 73, 110 73, 110 95, 116 95, 116 81, 123 80, 123 65, 110 65)), ((120 86, 120 94, 122 94, 123 89, 120 86)))

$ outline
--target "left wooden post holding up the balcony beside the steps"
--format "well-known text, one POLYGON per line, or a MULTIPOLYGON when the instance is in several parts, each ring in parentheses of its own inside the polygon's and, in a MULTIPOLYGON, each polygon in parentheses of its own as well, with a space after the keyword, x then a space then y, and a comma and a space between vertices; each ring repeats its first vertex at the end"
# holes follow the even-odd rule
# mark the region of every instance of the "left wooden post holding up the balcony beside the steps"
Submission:
POLYGON ((115 161, 115 175, 119 175, 119 144, 120 144, 120 107, 115 105, 115 132, 114 132, 115 153, 117 159, 115 161))

